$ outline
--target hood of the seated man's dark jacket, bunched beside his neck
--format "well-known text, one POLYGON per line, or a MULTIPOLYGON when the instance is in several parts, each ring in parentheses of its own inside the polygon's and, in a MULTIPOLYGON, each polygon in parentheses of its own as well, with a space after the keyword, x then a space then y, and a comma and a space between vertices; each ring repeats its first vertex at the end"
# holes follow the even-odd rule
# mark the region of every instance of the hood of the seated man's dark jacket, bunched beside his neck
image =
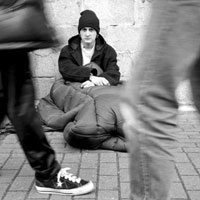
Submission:
MULTIPOLYGON (((68 44, 73 50, 76 50, 80 46, 80 42, 81 38, 79 35, 75 35, 68 40, 68 44)), ((105 45, 106 45, 105 39, 103 38, 102 35, 99 34, 98 37, 96 38, 95 48, 97 50, 101 50, 105 45)))

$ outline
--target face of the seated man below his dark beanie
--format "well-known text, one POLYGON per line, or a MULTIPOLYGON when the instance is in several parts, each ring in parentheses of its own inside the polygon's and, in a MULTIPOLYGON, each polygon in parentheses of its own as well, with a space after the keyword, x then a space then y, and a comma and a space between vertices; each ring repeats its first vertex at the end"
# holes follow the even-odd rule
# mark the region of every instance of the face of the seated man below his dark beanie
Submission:
POLYGON ((80 31, 80 37, 82 39, 83 44, 92 45, 95 43, 97 32, 91 27, 84 27, 80 31))

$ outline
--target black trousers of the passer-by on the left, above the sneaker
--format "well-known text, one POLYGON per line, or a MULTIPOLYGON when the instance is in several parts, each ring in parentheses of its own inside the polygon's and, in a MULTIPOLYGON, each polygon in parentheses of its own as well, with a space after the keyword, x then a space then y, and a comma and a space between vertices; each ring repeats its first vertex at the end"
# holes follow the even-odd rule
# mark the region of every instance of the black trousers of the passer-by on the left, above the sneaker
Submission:
POLYGON ((0 51, 0 122, 8 116, 36 178, 49 179, 60 170, 60 165, 35 110, 29 67, 26 51, 0 51))

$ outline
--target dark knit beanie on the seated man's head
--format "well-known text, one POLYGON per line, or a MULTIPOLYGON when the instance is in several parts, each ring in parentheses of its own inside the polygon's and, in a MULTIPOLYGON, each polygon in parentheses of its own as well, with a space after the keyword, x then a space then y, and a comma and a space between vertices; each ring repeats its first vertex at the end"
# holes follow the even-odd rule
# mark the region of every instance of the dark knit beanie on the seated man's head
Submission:
POLYGON ((97 34, 100 31, 99 19, 96 14, 91 10, 84 10, 81 12, 81 17, 79 18, 78 32, 84 27, 91 27, 96 30, 97 34))

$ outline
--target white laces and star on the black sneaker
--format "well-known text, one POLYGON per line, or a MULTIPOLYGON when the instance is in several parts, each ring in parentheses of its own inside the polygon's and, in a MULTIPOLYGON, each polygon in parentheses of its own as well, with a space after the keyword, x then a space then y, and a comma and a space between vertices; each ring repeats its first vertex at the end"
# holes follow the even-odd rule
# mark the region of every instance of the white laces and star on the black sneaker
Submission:
POLYGON ((70 181, 72 181, 73 183, 80 183, 81 178, 78 178, 77 176, 73 175, 72 173, 67 172, 68 170, 70 170, 70 168, 66 167, 66 168, 62 168, 57 175, 57 184, 58 186, 62 186, 62 182, 60 181, 61 177, 64 177, 65 179, 68 179, 70 181))

